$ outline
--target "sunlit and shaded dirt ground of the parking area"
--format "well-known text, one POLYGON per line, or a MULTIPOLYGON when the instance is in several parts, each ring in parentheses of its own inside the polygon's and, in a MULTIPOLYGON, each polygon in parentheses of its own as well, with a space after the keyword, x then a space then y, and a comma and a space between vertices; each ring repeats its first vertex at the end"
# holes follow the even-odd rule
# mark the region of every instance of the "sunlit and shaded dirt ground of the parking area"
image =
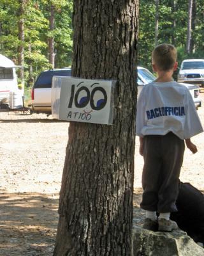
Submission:
MULTIPOLYGON (((198 115, 204 124, 203 106, 198 115)), ((68 123, 47 115, 0 113, 0 256, 51 256, 57 230, 57 207, 68 123)), ((204 133, 193 138, 198 153, 186 150, 180 180, 204 190, 204 133)), ((135 149, 136 221, 143 159, 135 149)))

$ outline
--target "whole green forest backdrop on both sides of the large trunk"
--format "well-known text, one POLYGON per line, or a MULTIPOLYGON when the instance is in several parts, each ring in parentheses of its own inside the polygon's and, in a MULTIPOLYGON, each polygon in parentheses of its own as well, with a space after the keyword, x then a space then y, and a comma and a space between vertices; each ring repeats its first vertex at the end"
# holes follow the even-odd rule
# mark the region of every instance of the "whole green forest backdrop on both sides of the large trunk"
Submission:
MULTIPOLYGON (((71 67, 71 0, 0 0, 0 53, 24 68, 18 83, 29 89, 41 71, 71 67)), ((204 58, 203 0, 140 0, 138 65, 151 70, 157 44, 174 44, 179 65, 204 58)))

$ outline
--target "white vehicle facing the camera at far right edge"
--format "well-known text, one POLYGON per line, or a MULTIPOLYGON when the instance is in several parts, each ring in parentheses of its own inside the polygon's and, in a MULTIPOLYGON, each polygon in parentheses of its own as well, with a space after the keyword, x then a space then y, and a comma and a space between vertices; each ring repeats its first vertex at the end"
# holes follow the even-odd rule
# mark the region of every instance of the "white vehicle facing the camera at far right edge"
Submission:
POLYGON ((180 66, 178 82, 204 87, 204 59, 184 60, 180 66))

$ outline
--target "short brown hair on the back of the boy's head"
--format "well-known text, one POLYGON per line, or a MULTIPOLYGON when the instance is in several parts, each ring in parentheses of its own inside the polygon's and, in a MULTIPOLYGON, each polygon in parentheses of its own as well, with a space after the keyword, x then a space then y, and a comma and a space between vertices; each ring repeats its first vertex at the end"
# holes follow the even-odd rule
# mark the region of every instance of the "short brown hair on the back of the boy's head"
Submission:
POLYGON ((169 71, 177 61, 177 49, 171 44, 159 44, 152 52, 152 64, 156 64, 159 70, 169 71))

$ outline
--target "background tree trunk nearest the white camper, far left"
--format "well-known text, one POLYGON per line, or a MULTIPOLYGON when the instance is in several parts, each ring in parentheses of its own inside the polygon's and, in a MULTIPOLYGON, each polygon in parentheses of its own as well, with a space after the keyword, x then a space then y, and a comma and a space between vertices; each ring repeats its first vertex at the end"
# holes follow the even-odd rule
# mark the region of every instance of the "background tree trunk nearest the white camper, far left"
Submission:
POLYGON ((19 68, 19 78, 22 86, 24 87, 24 13, 25 13, 25 0, 19 0, 18 9, 18 39, 20 40, 20 45, 18 46, 18 65, 22 66, 19 68))

